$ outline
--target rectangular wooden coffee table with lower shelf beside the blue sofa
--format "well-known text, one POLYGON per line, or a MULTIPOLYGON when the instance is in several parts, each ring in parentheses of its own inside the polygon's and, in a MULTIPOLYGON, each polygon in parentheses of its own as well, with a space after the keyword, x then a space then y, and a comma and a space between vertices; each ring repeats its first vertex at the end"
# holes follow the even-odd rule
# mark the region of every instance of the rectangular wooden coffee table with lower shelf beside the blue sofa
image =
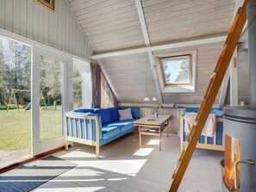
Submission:
POLYGON ((172 115, 159 115, 159 117, 155 119, 154 115, 148 115, 146 117, 141 118, 140 120, 134 121, 134 125, 138 126, 139 130, 140 147, 142 134, 159 136, 159 151, 161 151, 161 134, 168 126, 168 121, 171 117, 172 115))

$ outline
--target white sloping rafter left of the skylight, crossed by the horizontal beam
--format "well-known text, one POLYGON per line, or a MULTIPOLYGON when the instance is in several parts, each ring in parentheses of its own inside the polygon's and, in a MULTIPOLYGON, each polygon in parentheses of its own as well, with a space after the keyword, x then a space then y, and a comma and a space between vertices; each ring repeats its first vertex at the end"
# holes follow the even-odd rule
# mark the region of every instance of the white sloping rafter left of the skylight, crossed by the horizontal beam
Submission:
MULTIPOLYGON (((135 4, 136 4, 136 9, 138 11, 138 15, 139 15, 139 19, 140 19, 140 27, 141 27, 141 30, 142 30, 145 45, 150 46, 150 40, 149 40, 148 31, 147 31, 147 24, 146 24, 145 15, 144 15, 144 11, 143 11, 141 1, 140 0, 134 0, 134 1, 135 1, 135 4)), ((161 90, 160 90, 159 77, 157 75, 156 68, 153 67, 155 64, 154 64, 152 51, 147 51, 147 56, 148 56, 148 59, 149 59, 149 63, 151 65, 151 69, 152 69, 152 73, 153 73, 153 81, 154 81, 155 90, 156 90, 156 93, 157 93, 158 100, 159 100, 160 103, 163 103, 163 96, 162 96, 162 93, 161 93, 161 90)))

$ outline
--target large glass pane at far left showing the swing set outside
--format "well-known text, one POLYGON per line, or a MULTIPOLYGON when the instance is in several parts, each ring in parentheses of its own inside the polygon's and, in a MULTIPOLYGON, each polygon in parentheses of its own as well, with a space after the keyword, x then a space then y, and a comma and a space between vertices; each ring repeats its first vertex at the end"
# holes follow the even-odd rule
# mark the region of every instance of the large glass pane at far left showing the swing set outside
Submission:
POLYGON ((31 47, 0 36, 0 167, 31 154, 31 47))

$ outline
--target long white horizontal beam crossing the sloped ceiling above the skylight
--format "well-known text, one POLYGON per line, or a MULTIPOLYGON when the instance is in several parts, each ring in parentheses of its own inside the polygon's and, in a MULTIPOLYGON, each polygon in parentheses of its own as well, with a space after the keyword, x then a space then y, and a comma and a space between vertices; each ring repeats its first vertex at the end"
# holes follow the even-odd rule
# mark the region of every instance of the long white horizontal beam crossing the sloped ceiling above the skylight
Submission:
POLYGON ((111 57, 136 54, 136 53, 147 53, 149 51, 153 52, 153 51, 160 51, 165 49, 180 48, 184 46, 200 46, 203 44, 224 42, 226 38, 227 38, 227 34, 225 35, 222 34, 220 36, 206 37, 198 40, 182 40, 182 41, 163 44, 163 45, 133 47, 128 49, 115 50, 112 52, 96 53, 92 55, 92 59, 103 59, 103 58, 111 58, 111 57))

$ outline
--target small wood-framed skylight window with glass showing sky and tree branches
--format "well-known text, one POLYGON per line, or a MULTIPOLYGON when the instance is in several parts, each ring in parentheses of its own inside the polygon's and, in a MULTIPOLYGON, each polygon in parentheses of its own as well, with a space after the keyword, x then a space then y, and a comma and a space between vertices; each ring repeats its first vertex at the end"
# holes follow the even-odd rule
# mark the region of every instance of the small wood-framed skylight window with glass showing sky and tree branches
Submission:
POLYGON ((162 71, 165 85, 191 85, 191 55, 162 58, 162 71))

